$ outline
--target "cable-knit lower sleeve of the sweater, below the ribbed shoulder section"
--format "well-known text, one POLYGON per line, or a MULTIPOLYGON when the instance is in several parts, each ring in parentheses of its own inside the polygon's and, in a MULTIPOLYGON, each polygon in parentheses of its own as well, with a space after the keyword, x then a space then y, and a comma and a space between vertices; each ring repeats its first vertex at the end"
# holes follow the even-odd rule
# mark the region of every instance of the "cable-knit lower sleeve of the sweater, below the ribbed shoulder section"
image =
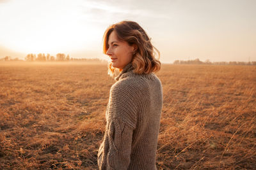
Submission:
POLYGON ((98 153, 99 169, 127 169, 131 162, 132 128, 114 118, 98 153))

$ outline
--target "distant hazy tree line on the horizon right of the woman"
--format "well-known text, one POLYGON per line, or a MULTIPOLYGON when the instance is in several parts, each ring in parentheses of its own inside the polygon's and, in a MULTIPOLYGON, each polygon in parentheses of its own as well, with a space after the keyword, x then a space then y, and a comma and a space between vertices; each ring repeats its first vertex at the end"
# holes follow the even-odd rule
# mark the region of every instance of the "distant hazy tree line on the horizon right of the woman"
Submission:
POLYGON ((239 65, 239 66, 245 66, 245 65, 256 65, 256 61, 250 61, 250 62, 237 62, 237 61, 230 61, 230 62, 211 62, 210 60, 205 60, 205 62, 200 61, 199 59, 195 60, 175 60, 173 64, 209 64, 209 65, 239 65))

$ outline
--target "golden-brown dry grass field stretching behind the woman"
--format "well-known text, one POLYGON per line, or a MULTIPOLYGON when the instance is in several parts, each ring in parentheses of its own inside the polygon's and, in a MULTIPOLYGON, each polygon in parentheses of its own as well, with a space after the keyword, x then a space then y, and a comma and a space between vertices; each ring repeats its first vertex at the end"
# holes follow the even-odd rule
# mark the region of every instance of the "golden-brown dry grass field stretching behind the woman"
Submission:
MULTIPOLYGON (((255 66, 166 64, 157 76, 157 169, 256 168, 255 66)), ((1 62, 0 80, 0 169, 97 169, 106 64, 1 62)))

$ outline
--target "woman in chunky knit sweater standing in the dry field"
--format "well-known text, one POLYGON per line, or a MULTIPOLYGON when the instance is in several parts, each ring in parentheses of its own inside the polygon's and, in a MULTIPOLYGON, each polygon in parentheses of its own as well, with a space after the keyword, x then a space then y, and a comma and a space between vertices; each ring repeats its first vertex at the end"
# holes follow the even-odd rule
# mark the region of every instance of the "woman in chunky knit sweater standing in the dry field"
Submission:
POLYGON ((109 74, 113 76, 115 69, 120 73, 109 93, 99 169, 156 169, 163 91, 153 73, 161 66, 154 49, 136 22, 113 24, 104 33, 109 74))

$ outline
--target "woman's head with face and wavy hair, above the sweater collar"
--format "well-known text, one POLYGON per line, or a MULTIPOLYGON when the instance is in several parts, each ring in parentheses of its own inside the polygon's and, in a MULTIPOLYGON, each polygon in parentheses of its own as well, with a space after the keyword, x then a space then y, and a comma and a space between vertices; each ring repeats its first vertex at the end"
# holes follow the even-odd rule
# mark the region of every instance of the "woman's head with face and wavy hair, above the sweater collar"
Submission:
POLYGON ((116 68, 122 71, 130 62, 134 73, 159 71, 161 63, 156 59, 156 54, 160 57, 160 53, 150 40, 136 22, 123 21, 108 27, 104 33, 103 52, 112 60, 108 66, 109 74, 113 76, 116 68))

